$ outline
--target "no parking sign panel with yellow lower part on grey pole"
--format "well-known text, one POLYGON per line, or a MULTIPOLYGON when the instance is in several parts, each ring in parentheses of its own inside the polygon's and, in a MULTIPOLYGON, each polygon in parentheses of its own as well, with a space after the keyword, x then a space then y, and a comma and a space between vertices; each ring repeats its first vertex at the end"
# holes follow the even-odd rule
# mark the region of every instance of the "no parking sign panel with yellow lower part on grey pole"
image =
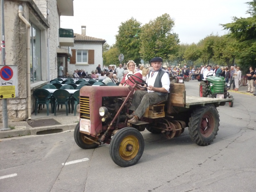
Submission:
POLYGON ((18 67, 0 65, 0 99, 18 96, 18 67))

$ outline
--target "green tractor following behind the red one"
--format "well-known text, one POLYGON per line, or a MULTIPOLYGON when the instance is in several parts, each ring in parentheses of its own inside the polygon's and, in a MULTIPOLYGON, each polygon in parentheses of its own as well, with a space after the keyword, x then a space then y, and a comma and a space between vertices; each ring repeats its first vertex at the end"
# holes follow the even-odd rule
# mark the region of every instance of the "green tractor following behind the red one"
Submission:
MULTIPOLYGON (((232 95, 229 95, 227 91, 227 86, 224 77, 216 77, 210 75, 206 79, 202 79, 199 86, 199 96, 200 97, 210 97, 210 98, 233 98, 232 95)), ((224 106, 226 102, 221 102, 220 105, 224 106)), ((229 107, 233 107, 233 101, 229 102, 229 107)))

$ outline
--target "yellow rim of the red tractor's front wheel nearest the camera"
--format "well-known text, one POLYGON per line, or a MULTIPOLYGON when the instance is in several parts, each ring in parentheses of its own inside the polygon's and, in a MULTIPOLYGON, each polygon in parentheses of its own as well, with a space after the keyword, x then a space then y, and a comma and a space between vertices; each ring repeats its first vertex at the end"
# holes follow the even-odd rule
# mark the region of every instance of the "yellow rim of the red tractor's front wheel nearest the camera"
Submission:
POLYGON ((140 144, 138 138, 133 135, 128 135, 119 145, 119 155, 125 161, 129 161, 136 157, 139 148, 140 144))

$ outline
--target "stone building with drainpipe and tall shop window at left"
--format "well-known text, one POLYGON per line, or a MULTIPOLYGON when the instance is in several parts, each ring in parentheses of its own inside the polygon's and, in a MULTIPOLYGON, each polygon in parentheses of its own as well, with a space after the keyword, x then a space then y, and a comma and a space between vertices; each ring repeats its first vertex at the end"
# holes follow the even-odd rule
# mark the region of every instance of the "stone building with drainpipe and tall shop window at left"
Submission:
POLYGON ((60 62, 65 62, 67 67, 67 58, 70 56, 68 48, 74 46, 74 36, 72 29, 60 29, 61 15, 74 15, 73 0, 4 0, 6 65, 18 67, 18 86, 15 87, 18 96, 7 99, 9 122, 29 119, 35 110, 33 90, 58 76, 60 62), (21 20, 21 16, 31 27, 21 20), (28 41, 27 33, 30 34, 28 41), (27 55, 28 44, 30 49, 27 55))

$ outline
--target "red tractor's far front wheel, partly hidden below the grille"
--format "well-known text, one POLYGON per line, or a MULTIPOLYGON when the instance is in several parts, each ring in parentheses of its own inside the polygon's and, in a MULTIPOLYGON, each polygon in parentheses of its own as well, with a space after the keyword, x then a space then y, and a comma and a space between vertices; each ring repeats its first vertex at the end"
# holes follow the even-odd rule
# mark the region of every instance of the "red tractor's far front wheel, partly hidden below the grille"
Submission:
POLYGON ((95 140, 95 141, 98 140, 95 137, 91 137, 90 135, 79 132, 79 123, 78 123, 74 130, 74 139, 76 141, 76 144, 82 149, 94 149, 99 146, 97 143, 94 143, 93 141, 90 141, 90 140, 84 138, 84 136, 89 137, 90 139, 95 140))

